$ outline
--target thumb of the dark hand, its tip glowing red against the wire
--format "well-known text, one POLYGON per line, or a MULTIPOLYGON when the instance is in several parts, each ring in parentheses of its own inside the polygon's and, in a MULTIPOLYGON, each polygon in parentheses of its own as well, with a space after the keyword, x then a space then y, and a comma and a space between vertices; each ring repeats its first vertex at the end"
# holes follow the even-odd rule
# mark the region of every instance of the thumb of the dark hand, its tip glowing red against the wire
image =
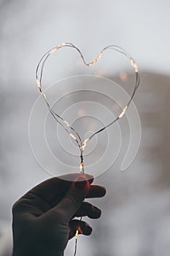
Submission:
POLYGON ((59 213, 69 222, 82 205, 92 182, 93 176, 83 175, 77 178, 76 181, 72 182, 71 188, 66 192, 61 202, 52 211, 59 213))

